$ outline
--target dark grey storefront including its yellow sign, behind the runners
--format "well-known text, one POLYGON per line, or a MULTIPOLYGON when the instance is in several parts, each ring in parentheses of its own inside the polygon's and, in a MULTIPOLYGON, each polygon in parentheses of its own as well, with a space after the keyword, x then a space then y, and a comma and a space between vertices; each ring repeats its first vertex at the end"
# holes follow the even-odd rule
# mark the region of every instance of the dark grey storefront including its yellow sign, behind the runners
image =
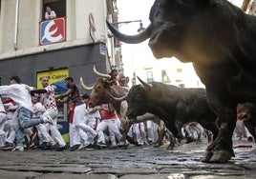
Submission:
MULTIPOLYGON (((75 84, 78 87, 80 77, 83 77, 87 85, 92 85, 96 82, 96 75, 93 73, 94 65, 98 70, 107 72, 104 48, 105 45, 102 43, 90 44, 1 60, 2 85, 9 85, 12 75, 20 76, 22 83, 37 89, 42 88, 41 79, 44 76, 49 77, 50 84, 56 84, 71 76, 75 79, 75 84)), ((58 106, 59 115, 57 118, 57 127, 66 142, 69 141, 67 106, 67 104, 58 106)))

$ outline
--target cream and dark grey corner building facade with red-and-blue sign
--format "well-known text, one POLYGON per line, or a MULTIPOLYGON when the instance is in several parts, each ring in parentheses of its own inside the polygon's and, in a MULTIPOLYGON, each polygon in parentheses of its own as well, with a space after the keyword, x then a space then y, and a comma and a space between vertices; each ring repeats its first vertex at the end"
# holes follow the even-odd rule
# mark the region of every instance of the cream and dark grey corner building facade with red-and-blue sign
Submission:
POLYGON ((113 7, 113 0, 0 0, 1 83, 19 75, 36 86, 38 72, 57 69, 94 83, 93 66, 108 72, 113 63, 105 23, 113 7), (55 19, 45 19, 47 6, 55 19))

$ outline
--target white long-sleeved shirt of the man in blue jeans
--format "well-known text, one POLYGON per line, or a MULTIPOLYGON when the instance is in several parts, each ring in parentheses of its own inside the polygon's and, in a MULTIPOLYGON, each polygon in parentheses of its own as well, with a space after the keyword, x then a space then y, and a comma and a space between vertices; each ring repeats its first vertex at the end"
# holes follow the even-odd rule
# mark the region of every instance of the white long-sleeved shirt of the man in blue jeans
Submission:
POLYGON ((18 109, 25 108, 33 111, 32 109, 32 96, 29 92, 29 86, 24 84, 11 84, 9 86, 0 86, 0 94, 3 97, 10 97, 18 109))

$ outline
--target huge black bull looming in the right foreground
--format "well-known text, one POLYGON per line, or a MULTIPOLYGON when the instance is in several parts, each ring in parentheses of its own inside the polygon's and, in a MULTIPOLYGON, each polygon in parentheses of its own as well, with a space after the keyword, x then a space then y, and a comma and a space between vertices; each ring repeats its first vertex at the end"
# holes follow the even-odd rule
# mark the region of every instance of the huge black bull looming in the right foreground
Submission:
POLYGON ((149 18, 149 27, 134 36, 107 24, 126 43, 149 38, 157 58, 193 63, 221 125, 202 161, 228 161, 237 104, 256 101, 256 17, 225 0, 156 0, 149 18))

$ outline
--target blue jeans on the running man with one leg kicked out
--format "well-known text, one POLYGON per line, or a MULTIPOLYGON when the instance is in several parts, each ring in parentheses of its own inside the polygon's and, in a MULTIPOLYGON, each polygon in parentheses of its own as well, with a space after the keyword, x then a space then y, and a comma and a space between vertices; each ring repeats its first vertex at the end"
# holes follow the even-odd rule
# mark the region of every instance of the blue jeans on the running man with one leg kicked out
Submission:
POLYGON ((23 146, 24 134, 23 129, 31 128, 43 124, 43 119, 32 119, 32 111, 21 108, 18 110, 18 125, 16 128, 16 146, 23 146))

